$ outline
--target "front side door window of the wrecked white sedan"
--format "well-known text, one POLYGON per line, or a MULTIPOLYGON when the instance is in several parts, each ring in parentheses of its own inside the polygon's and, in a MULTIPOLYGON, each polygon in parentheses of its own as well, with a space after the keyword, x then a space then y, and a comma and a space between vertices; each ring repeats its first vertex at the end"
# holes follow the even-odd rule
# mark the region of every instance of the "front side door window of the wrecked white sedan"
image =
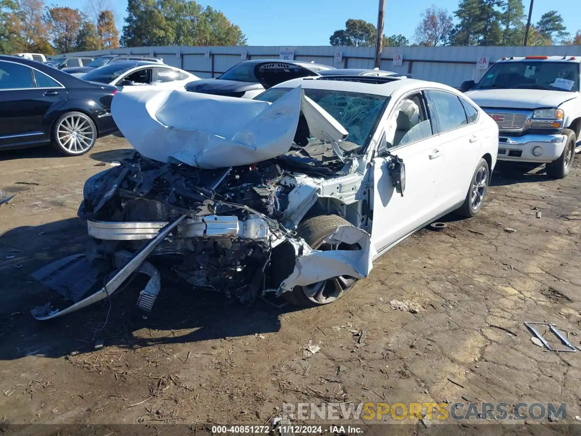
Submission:
POLYGON ((420 141, 433 134, 428 105, 422 92, 401 99, 391 113, 386 128, 388 147, 420 141))

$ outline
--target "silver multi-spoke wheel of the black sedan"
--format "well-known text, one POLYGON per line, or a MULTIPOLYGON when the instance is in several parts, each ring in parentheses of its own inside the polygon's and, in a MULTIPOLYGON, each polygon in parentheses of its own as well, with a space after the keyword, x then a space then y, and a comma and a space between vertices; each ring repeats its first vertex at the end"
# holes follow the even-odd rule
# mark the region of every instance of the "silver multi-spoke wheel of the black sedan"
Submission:
POLYGON ((52 129, 52 145, 66 156, 81 156, 95 145, 97 128, 83 112, 61 115, 52 129))

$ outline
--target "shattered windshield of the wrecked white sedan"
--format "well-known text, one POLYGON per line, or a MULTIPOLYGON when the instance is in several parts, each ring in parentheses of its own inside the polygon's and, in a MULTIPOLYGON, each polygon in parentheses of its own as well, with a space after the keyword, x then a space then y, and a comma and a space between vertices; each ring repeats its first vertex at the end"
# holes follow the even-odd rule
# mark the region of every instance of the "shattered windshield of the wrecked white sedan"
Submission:
MULTIPOLYGON (((255 100, 275 102, 293 88, 270 88, 255 100)), ((347 141, 367 145, 389 97, 363 92, 315 90, 303 88, 304 94, 325 109, 349 132, 347 141)))

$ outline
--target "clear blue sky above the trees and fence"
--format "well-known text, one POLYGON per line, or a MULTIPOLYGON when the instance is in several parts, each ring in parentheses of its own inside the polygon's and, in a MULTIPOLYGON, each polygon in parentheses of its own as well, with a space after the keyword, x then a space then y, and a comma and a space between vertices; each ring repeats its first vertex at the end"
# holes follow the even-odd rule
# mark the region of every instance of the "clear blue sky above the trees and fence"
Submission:
MULTIPOLYGON (((83 10, 86 0, 46 0, 48 5, 69 6, 83 10)), ((111 0, 121 30, 127 15, 127 0, 111 0)), ((378 0, 215 0, 199 1, 224 12, 232 23, 238 24, 248 38, 248 45, 328 45, 333 31, 343 28, 349 18, 363 19, 376 24, 378 0)), ((456 10, 458 0, 386 0, 386 35, 403 34, 413 40, 414 29, 421 13, 437 3, 450 13, 456 10)), ((529 0, 525 3, 528 13, 529 0)), ((575 34, 581 29, 581 1, 554 2, 535 0, 533 19, 551 9, 557 9, 567 30, 575 34)))

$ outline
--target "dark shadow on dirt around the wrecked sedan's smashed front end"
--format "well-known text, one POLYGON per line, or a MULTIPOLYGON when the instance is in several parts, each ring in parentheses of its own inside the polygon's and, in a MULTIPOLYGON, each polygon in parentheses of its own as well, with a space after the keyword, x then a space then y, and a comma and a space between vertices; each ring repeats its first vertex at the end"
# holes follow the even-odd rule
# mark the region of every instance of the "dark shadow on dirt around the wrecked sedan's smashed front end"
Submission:
POLYGON ((137 349, 272 333, 280 328, 279 316, 301 310, 273 297, 246 306, 219 292, 193 290, 187 283, 171 283, 162 277, 152 312, 145 313, 136 304, 148 277, 141 280, 138 274, 127 289, 110 299, 54 320, 35 320, 31 308, 48 301, 53 307, 69 303, 29 274, 54 260, 84 252, 86 233, 81 220, 69 219, 18 227, 0 235, 1 360, 91 352, 98 340, 105 346, 137 349))

